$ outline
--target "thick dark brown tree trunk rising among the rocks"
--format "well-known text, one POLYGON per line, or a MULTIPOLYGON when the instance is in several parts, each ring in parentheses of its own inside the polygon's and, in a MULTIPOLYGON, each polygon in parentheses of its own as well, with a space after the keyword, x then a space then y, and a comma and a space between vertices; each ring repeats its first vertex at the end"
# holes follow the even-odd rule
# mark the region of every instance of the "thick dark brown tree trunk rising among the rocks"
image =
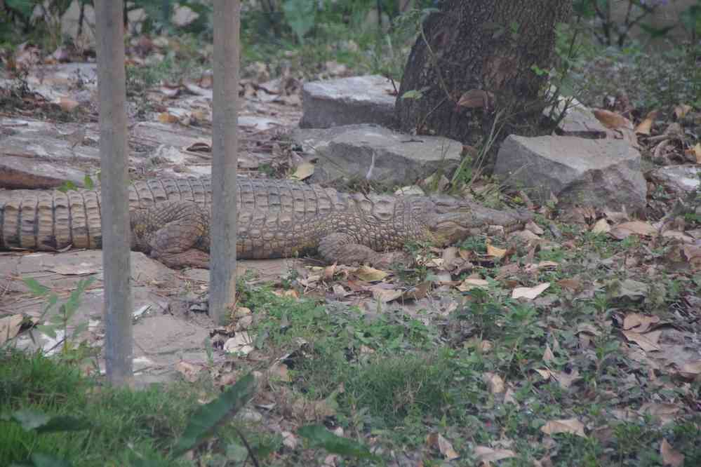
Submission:
POLYGON ((506 125, 502 137, 536 121, 555 27, 571 9, 563 0, 441 2, 422 23, 404 69, 399 128, 476 144, 495 120, 506 125), (410 90, 418 92, 402 97, 410 90))

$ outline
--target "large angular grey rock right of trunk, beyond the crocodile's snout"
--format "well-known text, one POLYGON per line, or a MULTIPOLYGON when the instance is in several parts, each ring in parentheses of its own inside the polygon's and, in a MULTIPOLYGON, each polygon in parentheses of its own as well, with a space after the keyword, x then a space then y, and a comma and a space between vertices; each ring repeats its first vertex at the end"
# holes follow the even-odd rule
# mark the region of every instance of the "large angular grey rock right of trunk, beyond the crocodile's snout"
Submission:
POLYGON ((643 212, 647 187, 640 159, 623 140, 510 135, 499 149, 494 172, 541 203, 555 195, 559 208, 643 212))

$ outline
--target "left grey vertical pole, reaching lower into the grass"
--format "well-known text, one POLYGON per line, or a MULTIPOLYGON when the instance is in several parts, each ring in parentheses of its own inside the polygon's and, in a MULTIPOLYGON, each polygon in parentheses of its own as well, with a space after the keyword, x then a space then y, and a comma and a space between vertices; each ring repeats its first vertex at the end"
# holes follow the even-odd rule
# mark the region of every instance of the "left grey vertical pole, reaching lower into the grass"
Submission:
POLYGON ((133 381, 123 0, 96 0, 105 364, 115 386, 133 381))

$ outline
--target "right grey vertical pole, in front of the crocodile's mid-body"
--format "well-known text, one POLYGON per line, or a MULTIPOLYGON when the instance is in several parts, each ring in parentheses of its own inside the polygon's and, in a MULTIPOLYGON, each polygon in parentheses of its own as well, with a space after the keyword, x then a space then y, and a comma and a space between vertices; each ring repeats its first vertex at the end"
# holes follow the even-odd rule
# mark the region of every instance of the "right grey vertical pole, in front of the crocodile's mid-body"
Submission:
POLYGON ((239 99, 239 0, 214 2, 212 224, 209 310, 224 324, 236 295, 236 165, 239 99))

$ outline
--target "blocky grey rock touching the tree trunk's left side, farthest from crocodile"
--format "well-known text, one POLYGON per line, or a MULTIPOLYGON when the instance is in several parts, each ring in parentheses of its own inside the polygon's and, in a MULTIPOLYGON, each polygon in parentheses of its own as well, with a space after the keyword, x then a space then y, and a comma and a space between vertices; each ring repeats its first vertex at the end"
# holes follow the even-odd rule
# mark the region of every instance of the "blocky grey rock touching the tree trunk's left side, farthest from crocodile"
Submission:
POLYGON ((394 126, 392 83, 384 76, 312 81, 302 87, 302 128, 331 128, 353 123, 394 126))

